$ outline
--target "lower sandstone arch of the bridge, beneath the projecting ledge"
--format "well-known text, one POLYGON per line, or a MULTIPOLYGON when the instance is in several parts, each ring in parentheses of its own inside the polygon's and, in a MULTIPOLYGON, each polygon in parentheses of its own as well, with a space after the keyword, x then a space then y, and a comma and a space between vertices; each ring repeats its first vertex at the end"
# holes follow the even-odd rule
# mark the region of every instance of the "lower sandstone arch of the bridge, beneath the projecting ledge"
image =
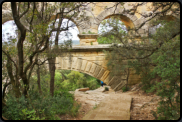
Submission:
POLYGON ((56 69, 74 70, 102 80, 115 91, 126 84, 126 76, 112 76, 107 69, 107 60, 102 52, 77 52, 73 57, 56 57, 56 69))

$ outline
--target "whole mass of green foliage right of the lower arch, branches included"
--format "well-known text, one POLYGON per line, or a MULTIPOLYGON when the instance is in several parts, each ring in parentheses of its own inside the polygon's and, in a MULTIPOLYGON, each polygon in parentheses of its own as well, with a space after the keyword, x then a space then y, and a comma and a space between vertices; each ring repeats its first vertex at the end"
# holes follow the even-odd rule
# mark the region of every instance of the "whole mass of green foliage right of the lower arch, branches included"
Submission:
MULTIPOLYGON (((108 22, 104 21, 106 23, 108 22)), ((174 120, 180 117, 180 19, 157 19, 153 23, 158 24, 161 26, 156 32, 150 37, 142 37, 138 44, 112 22, 108 24, 112 26, 112 30, 103 30, 99 38, 101 43, 110 39, 116 43, 111 46, 111 52, 106 51, 106 58, 109 60, 107 66, 112 74, 118 74, 126 68, 134 69, 141 76, 142 90, 161 96, 157 112, 152 112, 155 118, 174 120), (148 38, 150 44, 147 43, 148 38), (123 46, 117 46, 119 43, 123 46)), ((124 87, 123 91, 127 89, 124 87)))

